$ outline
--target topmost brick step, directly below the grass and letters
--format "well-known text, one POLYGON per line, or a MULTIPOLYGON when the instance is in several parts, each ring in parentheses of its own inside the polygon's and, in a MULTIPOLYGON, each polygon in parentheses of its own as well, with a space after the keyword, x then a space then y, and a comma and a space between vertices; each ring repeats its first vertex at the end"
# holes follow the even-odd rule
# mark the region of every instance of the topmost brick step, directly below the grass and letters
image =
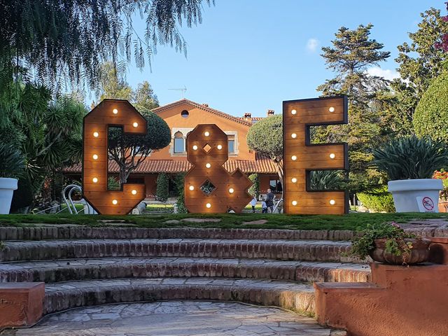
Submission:
POLYGON ((349 230, 276 230, 207 228, 89 228, 73 224, 0 227, 0 241, 51 239, 315 239, 350 240, 349 230))

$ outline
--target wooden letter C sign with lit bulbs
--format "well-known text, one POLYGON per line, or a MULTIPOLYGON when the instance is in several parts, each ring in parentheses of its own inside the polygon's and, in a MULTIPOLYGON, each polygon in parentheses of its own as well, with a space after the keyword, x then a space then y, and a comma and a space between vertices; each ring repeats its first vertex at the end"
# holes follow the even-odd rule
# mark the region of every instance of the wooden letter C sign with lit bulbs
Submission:
POLYGON ((128 214, 144 200, 144 184, 107 189, 109 126, 129 134, 146 134, 146 119, 127 100, 104 99, 83 123, 83 196, 99 214, 128 214))

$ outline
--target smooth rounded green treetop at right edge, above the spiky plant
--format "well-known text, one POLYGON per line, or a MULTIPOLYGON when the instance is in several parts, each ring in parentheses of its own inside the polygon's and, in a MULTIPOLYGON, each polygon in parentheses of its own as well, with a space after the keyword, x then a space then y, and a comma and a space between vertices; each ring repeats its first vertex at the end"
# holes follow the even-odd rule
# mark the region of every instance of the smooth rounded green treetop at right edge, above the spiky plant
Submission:
POLYGON ((448 71, 433 80, 414 113, 414 130, 448 145, 448 71))

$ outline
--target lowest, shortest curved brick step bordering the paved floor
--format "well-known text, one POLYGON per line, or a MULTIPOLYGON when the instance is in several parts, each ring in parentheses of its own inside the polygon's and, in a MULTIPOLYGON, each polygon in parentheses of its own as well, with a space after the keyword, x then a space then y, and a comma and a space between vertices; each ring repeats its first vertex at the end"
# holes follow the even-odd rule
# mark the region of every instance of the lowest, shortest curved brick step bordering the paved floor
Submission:
POLYGON ((45 285, 44 314, 118 302, 219 300, 314 314, 309 284, 255 279, 158 278, 70 281, 45 285))

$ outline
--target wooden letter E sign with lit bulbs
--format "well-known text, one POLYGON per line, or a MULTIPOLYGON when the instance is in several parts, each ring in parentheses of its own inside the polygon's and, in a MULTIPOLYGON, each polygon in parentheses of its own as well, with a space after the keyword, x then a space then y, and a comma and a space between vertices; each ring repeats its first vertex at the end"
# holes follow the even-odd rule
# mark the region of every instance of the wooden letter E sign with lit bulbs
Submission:
POLYGON ((309 127, 348 123, 347 98, 283 102, 284 209, 288 214, 346 214, 344 191, 310 190, 313 170, 348 169, 347 144, 311 144, 309 127))

